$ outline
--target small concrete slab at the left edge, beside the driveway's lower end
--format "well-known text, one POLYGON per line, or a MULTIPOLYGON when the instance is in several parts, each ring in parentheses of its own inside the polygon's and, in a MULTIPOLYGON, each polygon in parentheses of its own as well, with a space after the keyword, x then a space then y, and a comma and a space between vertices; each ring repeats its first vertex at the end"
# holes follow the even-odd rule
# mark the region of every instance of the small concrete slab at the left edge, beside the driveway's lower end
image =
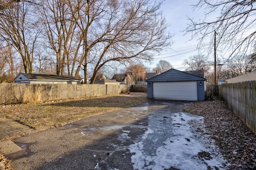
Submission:
POLYGON ((20 147, 18 147, 11 140, 0 142, 0 154, 9 155, 19 151, 22 151, 22 149, 20 149, 20 147))

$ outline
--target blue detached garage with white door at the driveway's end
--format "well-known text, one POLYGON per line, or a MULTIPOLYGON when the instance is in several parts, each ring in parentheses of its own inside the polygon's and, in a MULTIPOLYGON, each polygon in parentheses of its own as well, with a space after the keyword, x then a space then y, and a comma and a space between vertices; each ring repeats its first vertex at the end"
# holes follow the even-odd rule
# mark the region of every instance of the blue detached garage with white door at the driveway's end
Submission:
POLYGON ((148 99, 204 101, 206 79, 170 69, 149 80, 148 99))

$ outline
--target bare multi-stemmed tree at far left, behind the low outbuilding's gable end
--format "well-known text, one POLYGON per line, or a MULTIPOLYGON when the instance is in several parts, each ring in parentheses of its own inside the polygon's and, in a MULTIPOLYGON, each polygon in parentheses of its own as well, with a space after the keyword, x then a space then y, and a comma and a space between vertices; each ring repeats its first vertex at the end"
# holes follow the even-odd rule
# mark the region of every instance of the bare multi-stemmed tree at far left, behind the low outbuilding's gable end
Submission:
POLYGON ((0 38, 10 43, 20 54, 26 73, 33 73, 33 52, 39 32, 30 18, 31 4, 19 3, 14 8, 2 10, 0 38))

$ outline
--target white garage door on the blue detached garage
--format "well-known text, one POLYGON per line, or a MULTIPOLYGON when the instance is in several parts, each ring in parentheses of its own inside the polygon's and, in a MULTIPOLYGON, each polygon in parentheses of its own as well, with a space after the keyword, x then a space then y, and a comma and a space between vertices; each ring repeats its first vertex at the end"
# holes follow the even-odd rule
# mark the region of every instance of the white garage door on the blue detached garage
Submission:
POLYGON ((196 81, 153 82, 153 98, 197 101, 196 81))

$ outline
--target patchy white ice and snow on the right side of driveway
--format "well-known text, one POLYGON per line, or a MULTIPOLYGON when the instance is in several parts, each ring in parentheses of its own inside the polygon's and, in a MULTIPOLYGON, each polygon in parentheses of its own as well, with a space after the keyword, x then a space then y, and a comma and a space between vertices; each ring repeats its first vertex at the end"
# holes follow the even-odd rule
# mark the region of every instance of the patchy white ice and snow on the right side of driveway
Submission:
POLYGON ((134 169, 224 169, 226 162, 218 154, 218 147, 196 131, 198 127, 203 130, 202 125, 203 117, 189 113, 150 116, 148 131, 129 146, 134 169))

